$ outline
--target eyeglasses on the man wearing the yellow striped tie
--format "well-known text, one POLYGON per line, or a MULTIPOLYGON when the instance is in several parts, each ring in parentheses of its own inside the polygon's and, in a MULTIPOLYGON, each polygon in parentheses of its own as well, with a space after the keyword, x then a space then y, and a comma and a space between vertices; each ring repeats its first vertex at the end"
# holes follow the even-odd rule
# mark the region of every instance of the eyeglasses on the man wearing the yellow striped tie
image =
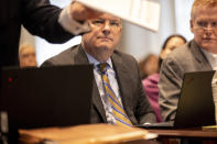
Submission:
POLYGON ((105 20, 105 19, 94 19, 89 20, 89 23, 97 27, 102 27, 108 22, 111 29, 120 29, 122 26, 121 21, 119 20, 105 20))

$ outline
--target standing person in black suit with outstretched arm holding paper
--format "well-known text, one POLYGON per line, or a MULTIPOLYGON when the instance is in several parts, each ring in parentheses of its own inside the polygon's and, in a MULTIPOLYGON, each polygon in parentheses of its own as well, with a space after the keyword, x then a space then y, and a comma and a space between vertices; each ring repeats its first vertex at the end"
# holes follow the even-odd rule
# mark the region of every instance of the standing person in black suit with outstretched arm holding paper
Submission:
POLYGON ((51 43, 64 43, 89 31, 85 20, 97 13, 78 2, 62 10, 48 0, 0 0, 0 68, 19 64, 21 24, 51 43))

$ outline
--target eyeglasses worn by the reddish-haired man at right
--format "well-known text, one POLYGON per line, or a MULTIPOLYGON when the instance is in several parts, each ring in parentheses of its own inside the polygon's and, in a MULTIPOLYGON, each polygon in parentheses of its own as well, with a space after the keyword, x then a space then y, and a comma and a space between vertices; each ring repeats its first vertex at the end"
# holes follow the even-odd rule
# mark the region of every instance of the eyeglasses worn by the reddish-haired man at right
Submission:
POLYGON ((208 21, 197 21, 195 29, 200 29, 203 31, 213 30, 213 31, 217 32, 217 21, 211 21, 211 22, 208 22, 208 21))

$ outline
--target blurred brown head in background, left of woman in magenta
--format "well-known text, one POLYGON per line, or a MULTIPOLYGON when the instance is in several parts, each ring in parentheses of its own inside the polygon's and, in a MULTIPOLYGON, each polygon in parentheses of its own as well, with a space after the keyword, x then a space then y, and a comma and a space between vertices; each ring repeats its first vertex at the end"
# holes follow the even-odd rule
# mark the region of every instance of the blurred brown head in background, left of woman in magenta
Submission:
POLYGON ((159 69, 159 57, 154 54, 149 54, 144 59, 139 62, 142 79, 155 74, 159 69))

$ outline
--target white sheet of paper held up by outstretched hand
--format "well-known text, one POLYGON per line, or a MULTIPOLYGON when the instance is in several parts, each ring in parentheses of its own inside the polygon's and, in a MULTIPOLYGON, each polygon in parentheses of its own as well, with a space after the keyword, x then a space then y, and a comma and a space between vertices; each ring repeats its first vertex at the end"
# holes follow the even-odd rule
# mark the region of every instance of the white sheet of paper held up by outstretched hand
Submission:
POLYGON ((158 31, 160 4, 151 0, 77 0, 93 9, 113 14, 142 27, 158 31))

